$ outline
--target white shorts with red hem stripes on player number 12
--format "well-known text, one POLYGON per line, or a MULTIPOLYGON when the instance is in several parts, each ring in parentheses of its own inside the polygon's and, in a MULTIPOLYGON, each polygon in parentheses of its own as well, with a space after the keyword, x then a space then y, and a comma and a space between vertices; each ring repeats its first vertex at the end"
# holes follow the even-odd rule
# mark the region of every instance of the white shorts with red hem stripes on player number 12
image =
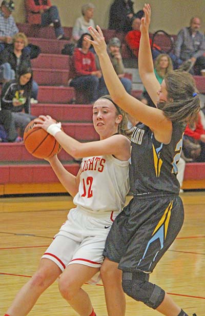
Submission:
POLYGON ((74 263, 100 268, 106 238, 116 215, 109 212, 106 218, 95 218, 78 208, 71 209, 68 220, 42 258, 55 262, 61 271, 74 263))

